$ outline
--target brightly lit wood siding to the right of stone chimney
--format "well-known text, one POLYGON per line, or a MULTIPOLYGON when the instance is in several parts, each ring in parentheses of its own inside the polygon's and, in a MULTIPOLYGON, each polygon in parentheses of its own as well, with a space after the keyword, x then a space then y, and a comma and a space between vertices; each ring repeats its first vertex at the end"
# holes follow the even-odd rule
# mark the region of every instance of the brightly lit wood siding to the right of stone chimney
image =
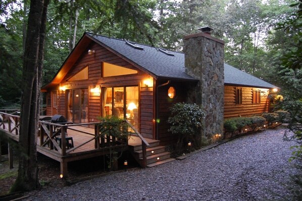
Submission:
POLYGON ((269 89, 242 88, 242 104, 235 104, 235 86, 224 87, 224 118, 250 116, 269 111, 269 89), (260 103, 253 103, 253 91, 261 91, 260 103))

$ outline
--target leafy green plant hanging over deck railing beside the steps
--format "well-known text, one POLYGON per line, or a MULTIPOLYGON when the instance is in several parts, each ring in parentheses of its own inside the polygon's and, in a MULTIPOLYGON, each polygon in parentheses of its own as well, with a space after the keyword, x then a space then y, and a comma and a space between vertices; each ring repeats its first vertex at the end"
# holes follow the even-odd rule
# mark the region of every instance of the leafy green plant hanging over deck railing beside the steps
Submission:
POLYGON ((119 139, 127 139, 130 137, 129 125, 125 120, 116 116, 98 117, 100 120, 99 132, 100 136, 113 136, 119 139))

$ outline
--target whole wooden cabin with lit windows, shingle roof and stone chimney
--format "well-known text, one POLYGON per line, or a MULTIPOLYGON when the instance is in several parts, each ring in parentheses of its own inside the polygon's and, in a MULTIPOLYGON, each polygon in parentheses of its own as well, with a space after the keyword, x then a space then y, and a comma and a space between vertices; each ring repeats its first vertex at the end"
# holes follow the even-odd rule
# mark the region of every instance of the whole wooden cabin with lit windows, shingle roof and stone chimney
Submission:
POLYGON ((277 87, 224 63, 224 42, 200 30, 184 37, 184 53, 85 32, 41 89, 46 115, 73 123, 115 115, 167 145, 175 141, 167 119, 177 102, 204 107, 206 136, 223 133, 224 118, 268 112, 277 87))

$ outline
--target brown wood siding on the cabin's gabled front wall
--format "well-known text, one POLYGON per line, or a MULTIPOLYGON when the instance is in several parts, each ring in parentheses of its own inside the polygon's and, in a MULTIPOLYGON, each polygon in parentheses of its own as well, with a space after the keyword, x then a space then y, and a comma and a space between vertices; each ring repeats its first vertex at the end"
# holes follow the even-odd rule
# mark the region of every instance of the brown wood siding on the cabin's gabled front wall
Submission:
MULTIPOLYGON (((118 57, 114 53, 110 52, 106 48, 92 42, 87 50, 79 56, 71 70, 66 74, 61 86, 65 86, 66 90, 71 89, 88 89, 88 120, 89 122, 97 122, 97 117, 102 116, 102 92, 99 94, 91 93, 90 89, 99 86, 102 87, 127 87, 127 86, 140 86, 143 79, 149 78, 150 76, 122 58, 118 57), (88 55, 88 50, 94 50, 95 53, 88 55), (102 74, 102 62, 108 62, 111 64, 127 67, 130 69, 137 70, 137 74, 112 76, 112 77, 101 77, 102 74), (81 69, 88 66, 88 79, 82 81, 68 81, 68 79, 78 73, 81 69)), ((59 90, 59 86, 57 87, 59 90)), ((153 138, 154 125, 153 125, 153 88, 139 89, 141 92, 139 96, 140 114, 139 118, 139 131, 142 136, 146 138, 153 138)), ((66 91, 67 92, 67 91, 66 91)), ((66 99, 67 93, 60 92, 60 114, 66 115, 66 99)), ((47 114, 51 115, 51 107, 47 107, 47 114)))

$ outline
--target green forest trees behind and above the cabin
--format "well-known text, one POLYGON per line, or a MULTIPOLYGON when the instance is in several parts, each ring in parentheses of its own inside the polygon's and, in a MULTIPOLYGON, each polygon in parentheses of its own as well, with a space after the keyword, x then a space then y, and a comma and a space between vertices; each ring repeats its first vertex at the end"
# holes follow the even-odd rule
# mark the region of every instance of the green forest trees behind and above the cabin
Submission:
MULTIPOLYGON (((184 35, 210 26, 226 43, 226 63, 284 89, 281 93, 301 86, 300 71, 284 70, 280 60, 298 49, 300 28, 276 30, 296 12, 297 7, 289 5, 300 1, 129 0, 125 9, 118 2, 50 2, 42 85, 51 81, 85 31, 181 52, 184 35)), ((1 0, 0 107, 20 103, 28 12, 28 0, 1 0)))

